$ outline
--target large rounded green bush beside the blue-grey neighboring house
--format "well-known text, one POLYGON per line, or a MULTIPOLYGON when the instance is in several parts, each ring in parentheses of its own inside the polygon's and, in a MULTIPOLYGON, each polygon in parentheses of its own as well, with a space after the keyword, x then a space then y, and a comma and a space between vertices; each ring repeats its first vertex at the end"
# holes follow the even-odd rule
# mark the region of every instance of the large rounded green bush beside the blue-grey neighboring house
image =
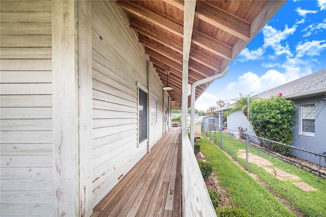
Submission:
MULTIPOLYGON (((295 118, 295 103, 282 98, 281 95, 261 99, 250 105, 250 123, 258 137, 291 144, 293 136, 293 119, 295 118)), ((268 144, 271 150, 286 155, 290 149, 279 144, 268 144)))

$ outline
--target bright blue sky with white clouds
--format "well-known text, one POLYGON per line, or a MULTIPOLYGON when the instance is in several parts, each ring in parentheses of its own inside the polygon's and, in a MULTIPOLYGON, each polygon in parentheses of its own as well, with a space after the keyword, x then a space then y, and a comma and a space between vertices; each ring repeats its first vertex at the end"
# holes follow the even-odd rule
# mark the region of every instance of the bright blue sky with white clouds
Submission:
POLYGON ((219 99, 253 95, 326 68, 326 0, 288 1, 196 100, 207 110, 219 99))

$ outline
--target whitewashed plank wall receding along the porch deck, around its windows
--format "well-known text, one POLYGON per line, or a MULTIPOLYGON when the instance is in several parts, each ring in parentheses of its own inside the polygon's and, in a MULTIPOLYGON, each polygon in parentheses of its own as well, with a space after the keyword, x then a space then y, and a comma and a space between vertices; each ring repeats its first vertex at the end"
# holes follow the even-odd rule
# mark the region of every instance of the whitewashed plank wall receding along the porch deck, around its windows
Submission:
POLYGON ((116 3, 94 1, 92 17, 94 207, 162 136, 163 93, 116 3), (157 98, 148 144, 138 144, 138 86, 147 89, 149 102, 157 98))

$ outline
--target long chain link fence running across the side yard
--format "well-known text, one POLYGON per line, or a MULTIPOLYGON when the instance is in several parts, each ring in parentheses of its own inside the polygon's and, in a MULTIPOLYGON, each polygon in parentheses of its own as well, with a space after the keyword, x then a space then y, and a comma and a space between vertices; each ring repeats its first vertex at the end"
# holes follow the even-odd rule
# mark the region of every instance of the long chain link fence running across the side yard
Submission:
POLYGON ((301 183, 300 177, 291 174, 293 168, 288 169, 288 165, 314 174, 317 181, 326 179, 326 153, 316 153, 257 137, 240 127, 230 129, 226 126, 201 122, 201 129, 202 133, 251 172, 262 170, 265 175, 271 175, 275 180, 290 181, 298 187, 307 189, 308 184, 301 183))

